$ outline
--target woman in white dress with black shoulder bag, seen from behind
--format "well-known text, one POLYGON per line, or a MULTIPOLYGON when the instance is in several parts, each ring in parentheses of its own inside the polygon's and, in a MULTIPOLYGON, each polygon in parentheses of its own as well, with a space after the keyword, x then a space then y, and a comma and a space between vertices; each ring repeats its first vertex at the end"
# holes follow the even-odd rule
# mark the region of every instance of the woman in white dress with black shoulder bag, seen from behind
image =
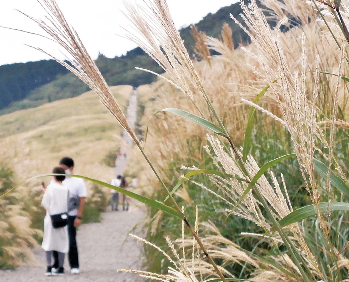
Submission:
MULTIPOLYGON (((61 167, 55 167, 52 173, 65 174, 61 167)), ((46 209, 44 218, 44 238, 41 247, 46 251, 47 268, 45 275, 64 274, 64 257, 68 252, 68 230, 67 226, 53 228, 50 214, 67 212, 68 189, 62 184, 64 175, 53 176, 53 181, 45 189, 41 204, 46 209), (52 271, 52 251, 58 252, 58 268, 52 271)))

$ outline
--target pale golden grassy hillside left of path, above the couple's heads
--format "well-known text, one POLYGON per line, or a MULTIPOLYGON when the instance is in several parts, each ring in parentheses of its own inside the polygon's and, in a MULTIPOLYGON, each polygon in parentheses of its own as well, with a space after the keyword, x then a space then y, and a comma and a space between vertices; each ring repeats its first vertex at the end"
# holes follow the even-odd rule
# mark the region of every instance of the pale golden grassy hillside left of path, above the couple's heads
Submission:
MULTIPOLYGON (((132 87, 111 89, 126 111, 132 87)), ((15 168, 19 180, 50 173, 65 155, 76 161, 76 174, 107 182, 113 176, 102 160, 120 146, 121 127, 93 91, 0 116, 0 128, 2 158, 15 168)))

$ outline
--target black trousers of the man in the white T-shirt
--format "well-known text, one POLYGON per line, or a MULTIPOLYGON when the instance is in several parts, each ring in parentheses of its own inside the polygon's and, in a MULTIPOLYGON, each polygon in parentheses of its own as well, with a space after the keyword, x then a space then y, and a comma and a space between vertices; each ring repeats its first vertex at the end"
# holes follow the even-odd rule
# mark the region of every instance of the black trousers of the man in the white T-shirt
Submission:
MULTIPOLYGON (((74 227, 75 216, 68 215, 68 238, 69 238, 69 251, 68 261, 71 268, 79 268, 79 257, 77 254, 76 245, 76 228, 74 227)), ((58 252, 53 251, 53 267, 58 267, 58 252)))

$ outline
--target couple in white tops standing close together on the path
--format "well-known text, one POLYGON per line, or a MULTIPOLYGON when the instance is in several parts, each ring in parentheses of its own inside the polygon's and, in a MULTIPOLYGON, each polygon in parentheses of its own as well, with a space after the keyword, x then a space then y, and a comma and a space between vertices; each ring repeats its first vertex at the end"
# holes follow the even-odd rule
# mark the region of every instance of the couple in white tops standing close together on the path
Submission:
MULTIPOLYGON (((73 174, 74 161, 64 157, 59 161, 59 166, 52 171, 54 174, 73 174)), ((77 274, 79 257, 76 243, 76 228, 80 226, 82 213, 87 196, 86 185, 81 178, 65 175, 55 175, 52 181, 44 188, 42 205, 46 209, 44 219, 44 238, 42 248, 46 251, 45 275, 63 275, 64 257, 68 253, 70 272, 77 274), (67 212, 67 225, 53 228, 51 216, 67 212), (53 264, 52 264, 53 256, 53 264)))

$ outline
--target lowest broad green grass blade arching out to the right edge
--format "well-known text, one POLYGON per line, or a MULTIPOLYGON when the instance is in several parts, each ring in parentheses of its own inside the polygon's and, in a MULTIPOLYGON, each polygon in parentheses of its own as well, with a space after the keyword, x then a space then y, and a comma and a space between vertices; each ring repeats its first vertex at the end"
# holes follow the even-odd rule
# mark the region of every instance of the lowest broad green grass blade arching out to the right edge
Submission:
MULTIPOLYGON (((321 213, 328 211, 349 211, 349 203, 343 202, 322 202, 319 204, 319 209, 321 213)), ((316 215, 314 205, 309 205, 296 209, 295 211, 286 215, 283 219, 279 221, 281 227, 288 226, 289 224, 301 221, 303 219, 309 218, 310 216, 316 215)), ((275 226, 273 226, 275 228, 275 226)))

